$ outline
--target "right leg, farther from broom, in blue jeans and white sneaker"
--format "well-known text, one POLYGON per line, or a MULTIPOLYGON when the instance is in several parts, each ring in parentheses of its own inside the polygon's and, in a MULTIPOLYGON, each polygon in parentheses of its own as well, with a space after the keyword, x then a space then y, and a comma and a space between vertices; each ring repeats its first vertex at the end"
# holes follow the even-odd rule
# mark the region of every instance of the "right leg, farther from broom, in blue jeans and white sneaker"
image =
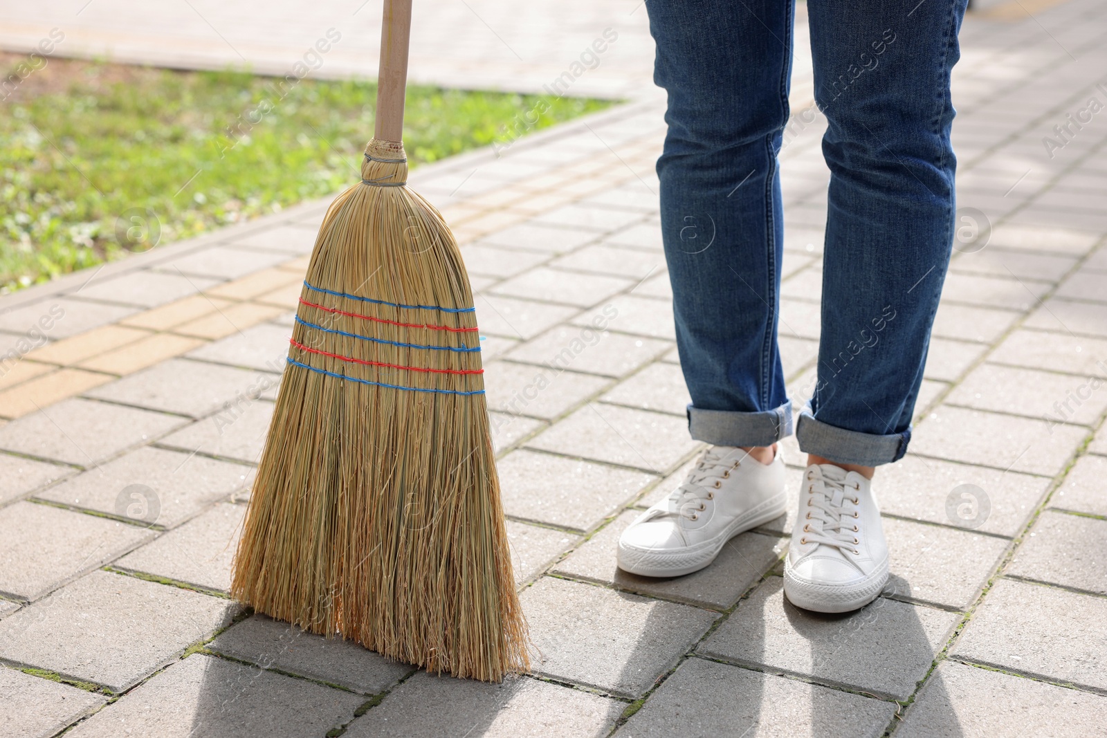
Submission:
POLYGON ((818 383, 785 560, 796 605, 842 612, 888 579, 873 467, 903 456, 953 241, 950 72, 965 0, 808 0, 829 126, 818 383))

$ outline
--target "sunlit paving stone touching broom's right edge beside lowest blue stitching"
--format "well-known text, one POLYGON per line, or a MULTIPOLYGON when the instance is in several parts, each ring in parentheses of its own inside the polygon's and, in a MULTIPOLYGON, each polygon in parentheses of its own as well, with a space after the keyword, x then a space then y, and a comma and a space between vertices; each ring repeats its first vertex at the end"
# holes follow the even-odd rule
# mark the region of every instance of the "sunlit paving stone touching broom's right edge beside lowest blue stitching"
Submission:
POLYGON ((611 381, 552 367, 492 362, 485 365, 488 408, 552 419, 603 391, 611 381))

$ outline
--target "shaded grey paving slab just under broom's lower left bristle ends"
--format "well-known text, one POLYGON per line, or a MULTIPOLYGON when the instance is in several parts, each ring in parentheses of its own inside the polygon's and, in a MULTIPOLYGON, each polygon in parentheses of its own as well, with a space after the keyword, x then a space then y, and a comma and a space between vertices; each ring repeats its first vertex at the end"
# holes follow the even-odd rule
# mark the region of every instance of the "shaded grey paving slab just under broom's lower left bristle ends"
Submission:
POLYGON ((220 633, 208 647, 262 668, 334 684, 364 695, 389 689, 411 674, 353 641, 324 638, 265 615, 251 615, 220 633))

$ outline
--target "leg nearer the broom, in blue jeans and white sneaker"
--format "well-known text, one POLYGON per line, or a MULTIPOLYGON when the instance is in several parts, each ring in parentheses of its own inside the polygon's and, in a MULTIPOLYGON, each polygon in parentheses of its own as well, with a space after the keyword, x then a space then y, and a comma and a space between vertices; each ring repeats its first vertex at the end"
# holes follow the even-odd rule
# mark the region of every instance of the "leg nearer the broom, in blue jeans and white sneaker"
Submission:
POLYGON ((649 0, 655 82, 669 93, 658 162, 689 429, 713 446, 619 539, 648 576, 706 567, 784 512, 792 432, 777 351, 782 257, 776 154, 788 119, 792 0, 649 0))

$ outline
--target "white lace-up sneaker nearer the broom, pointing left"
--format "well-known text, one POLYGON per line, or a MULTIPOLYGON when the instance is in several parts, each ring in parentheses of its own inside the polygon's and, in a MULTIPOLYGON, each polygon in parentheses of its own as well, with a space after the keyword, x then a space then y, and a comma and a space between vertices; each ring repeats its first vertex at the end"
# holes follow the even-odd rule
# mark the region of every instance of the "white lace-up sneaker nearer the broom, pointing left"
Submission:
POLYGON ((714 446, 684 482, 619 537, 619 568, 642 576, 680 576, 710 564, 738 533, 784 514, 784 460, 748 458, 714 446))

